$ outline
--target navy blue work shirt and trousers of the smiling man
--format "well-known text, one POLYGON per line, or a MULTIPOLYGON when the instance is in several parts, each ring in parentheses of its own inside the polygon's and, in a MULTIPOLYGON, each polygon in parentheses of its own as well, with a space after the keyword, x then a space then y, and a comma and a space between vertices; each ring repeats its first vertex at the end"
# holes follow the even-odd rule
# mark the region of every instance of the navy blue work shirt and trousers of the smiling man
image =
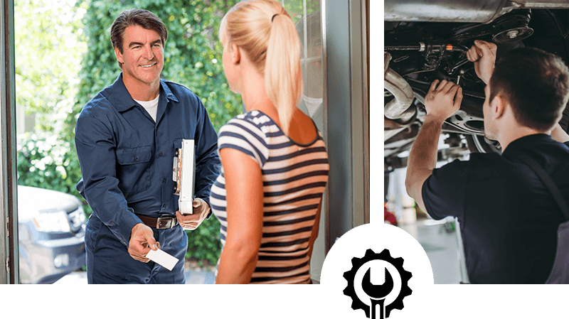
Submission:
POLYGON ((83 176, 77 188, 93 210, 85 234, 88 283, 184 283, 188 237, 180 225, 152 228, 161 249, 179 259, 172 271, 128 254, 132 227, 142 222, 135 212, 160 217, 178 210, 172 166, 182 139, 194 140, 194 195, 209 205, 220 171, 217 134, 196 94, 160 80, 154 121, 132 99, 121 73, 83 107, 75 146, 83 176))

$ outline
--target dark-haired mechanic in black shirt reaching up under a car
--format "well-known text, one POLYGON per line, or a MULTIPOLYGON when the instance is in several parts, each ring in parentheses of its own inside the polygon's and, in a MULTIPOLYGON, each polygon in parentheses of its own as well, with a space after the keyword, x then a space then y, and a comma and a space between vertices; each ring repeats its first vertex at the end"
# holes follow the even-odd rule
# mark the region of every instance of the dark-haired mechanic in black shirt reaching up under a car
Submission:
POLYGON ((564 217, 520 157, 535 159, 569 200, 569 135, 558 124, 569 99, 568 67, 533 48, 511 50, 494 65, 496 45, 482 40, 467 58, 486 83, 484 135, 502 153, 472 153, 435 168, 442 124, 462 101, 459 85, 435 80, 405 187, 433 219, 458 218, 470 283, 546 283, 564 217))

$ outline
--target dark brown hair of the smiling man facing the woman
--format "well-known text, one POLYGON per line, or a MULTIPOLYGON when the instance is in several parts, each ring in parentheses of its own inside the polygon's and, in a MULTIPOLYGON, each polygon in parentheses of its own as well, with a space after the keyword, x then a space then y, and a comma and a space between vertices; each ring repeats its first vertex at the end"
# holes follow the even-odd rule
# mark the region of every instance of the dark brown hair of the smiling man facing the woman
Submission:
MULTIPOLYGON (((115 19, 111 26, 111 43, 114 48, 118 48, 122 53, 122 40, 124 30, 129 26, 142 26, 147 30, 153 30, 158 33, 162 40, 162 47, 168 38, 168 31, 164 22, 160 20, 156 14, 143 9, 129 9, 122 11, 115 19)), ((122 67, 122 63, 119 66, 122 67)))

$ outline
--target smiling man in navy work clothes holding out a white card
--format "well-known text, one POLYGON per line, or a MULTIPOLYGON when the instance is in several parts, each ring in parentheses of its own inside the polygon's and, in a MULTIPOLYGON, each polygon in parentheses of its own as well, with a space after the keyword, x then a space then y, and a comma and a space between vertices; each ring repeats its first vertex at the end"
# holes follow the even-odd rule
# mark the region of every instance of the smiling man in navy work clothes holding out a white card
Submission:
POLYGON ((123 11, 111 42, 121 74, 81 112, 75 144, 92 207, 87 222, 88 283, 184 283, 188 237, 211 216, 209 193, 220 170, 217 134, 206 108, 186 87, 160 79, 164 23, 146 10, 123 11), (195 144, 193 215, 178 212, 172 165, 182 139, 195 144), (172 271, 146 258, 160 248, 172 271))

